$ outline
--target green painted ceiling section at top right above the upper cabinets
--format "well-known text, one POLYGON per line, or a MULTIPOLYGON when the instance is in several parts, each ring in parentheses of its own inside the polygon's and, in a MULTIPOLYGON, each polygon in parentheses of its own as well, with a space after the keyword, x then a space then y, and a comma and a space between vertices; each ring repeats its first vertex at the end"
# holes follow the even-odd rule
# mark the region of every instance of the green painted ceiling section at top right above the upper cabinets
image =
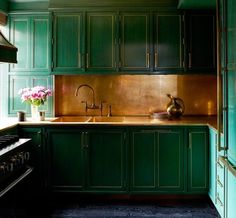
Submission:
POLYGON ((179 0, 179 9, 215 9, 216 1, 213 0, 179 0))

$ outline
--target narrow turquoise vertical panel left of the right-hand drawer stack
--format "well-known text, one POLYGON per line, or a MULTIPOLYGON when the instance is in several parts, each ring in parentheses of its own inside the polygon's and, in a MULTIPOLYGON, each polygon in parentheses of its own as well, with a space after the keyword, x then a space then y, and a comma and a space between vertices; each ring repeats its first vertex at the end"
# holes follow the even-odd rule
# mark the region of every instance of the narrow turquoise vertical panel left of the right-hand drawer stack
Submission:
POLYGON ((213 204, 216 203, 216 162, 217 162, 217 132, 210 128, 209 130, 209 191, 208 195, 213 204))

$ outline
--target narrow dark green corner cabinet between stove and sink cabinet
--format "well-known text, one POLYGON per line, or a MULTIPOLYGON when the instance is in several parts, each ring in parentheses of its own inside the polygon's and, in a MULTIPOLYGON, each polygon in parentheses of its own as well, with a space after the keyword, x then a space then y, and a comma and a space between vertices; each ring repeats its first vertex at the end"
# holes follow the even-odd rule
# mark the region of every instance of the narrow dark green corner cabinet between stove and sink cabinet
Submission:
POLYGON ((35 194, 42 194, 45 190, 45 177, 44 177, 44 129, 41 127, 19 127, 19 136, 21 138, 31 138, 31 164, 34 167, 33 171, 33 183, 35 194), (35 189, 37 187, 37 189, 35 189))

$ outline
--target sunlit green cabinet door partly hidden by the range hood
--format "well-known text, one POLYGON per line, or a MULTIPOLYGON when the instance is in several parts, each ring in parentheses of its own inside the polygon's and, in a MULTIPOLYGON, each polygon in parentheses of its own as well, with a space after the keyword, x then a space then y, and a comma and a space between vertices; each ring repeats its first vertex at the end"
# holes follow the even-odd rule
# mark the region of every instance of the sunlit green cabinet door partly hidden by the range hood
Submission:
POLYGON ((18 49, 17 64, 10 65, 10 71, 30 69, 30 19, 27 16, 10 18, 10 39, 18 49))

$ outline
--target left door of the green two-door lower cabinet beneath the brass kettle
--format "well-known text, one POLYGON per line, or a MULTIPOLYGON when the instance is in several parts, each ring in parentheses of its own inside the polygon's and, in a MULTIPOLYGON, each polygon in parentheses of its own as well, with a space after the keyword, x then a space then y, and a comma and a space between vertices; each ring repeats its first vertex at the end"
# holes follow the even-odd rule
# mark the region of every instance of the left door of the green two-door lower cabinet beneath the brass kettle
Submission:
POLYGON ((156 189, 157 146, 155 130, 131 134, 131 191, 156 189))

